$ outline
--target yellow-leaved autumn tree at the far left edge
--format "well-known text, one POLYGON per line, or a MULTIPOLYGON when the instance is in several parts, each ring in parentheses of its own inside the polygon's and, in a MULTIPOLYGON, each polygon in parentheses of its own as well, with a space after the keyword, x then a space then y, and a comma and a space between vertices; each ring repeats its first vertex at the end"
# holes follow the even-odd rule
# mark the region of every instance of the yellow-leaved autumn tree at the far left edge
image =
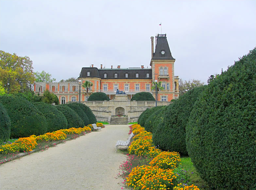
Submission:
POLYGON ((35 81, 32 61, 29 57, 19 57, 0 50, 0 78, 8 93, 32 91, 35 81))

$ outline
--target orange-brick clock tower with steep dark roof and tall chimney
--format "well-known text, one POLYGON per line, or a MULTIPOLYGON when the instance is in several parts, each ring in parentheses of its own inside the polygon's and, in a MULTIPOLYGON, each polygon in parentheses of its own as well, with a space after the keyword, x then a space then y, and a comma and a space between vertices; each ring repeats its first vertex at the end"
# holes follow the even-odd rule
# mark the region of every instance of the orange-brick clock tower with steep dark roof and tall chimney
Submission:
POLYGON ((158 101, 171 101, 179 97, 179 78, 174 76, 174 62, 166 34, 156 36, 154 52, 154 37, 151 36, 152 81, 161 82, 162 90, 158 92, 158 101))

